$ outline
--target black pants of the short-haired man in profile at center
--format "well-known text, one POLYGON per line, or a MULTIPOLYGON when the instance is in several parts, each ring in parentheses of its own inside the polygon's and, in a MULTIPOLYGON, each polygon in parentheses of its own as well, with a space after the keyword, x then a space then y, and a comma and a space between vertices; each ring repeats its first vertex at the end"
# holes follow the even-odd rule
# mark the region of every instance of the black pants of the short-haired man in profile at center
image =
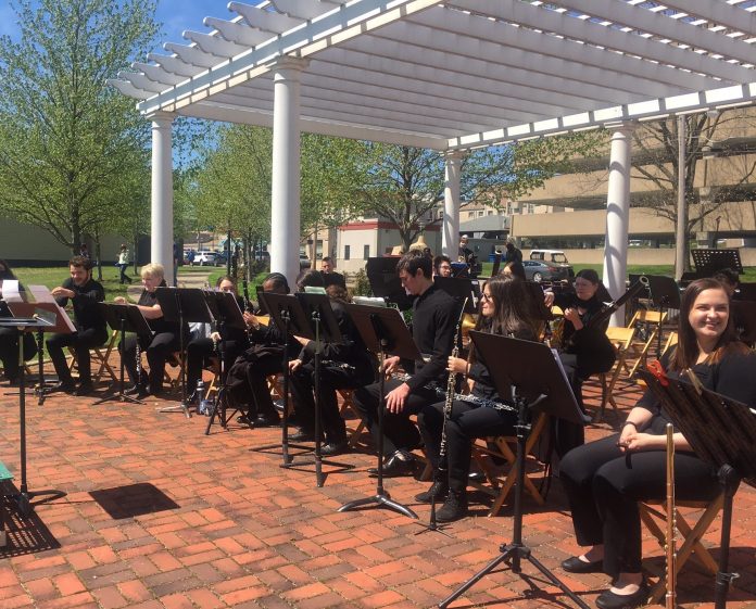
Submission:
MULTIPOLYGON (((383 394, 402 384, 402 381, 389 379, 383 385, 383 394)), ((427 388, 413 391, 404 403, 404 410, 398 415, 389 411, 383 416, 383 455, 393 455, 399 449, 412 451, 420 445, 420 433, 410 420, 411 415, 417 415, 423 408, 439 401, 439 394, 427 388)), ((380 437, 378 429, 378 408, 381 404, 380 383, 360 388, 354 392, 354 407, 365 421, 373 440, 378 446, 380 437)))

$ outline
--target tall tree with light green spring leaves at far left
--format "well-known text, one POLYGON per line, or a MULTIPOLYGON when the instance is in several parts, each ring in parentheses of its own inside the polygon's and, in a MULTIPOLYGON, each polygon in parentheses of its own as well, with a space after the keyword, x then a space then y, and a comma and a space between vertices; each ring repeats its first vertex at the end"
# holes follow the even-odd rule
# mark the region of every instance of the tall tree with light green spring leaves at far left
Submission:
POLYGON ((0 37, 0 208, 76 252, 149 160, 149 124, 106 85, 155 39, 150 0, 18 0, 0 37), (23 145, 18 145, 23 142, 23 145))

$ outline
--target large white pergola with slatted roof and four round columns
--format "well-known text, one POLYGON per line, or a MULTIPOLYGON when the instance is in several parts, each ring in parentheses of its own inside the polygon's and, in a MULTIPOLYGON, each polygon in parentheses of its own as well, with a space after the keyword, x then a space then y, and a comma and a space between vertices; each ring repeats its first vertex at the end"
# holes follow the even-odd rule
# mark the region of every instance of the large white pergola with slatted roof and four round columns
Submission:
POLYGON ((172 261, 177 115, 273 127, 272 269, 299 270, 301 131, 446 158, 455 252, 466 151, 612 130, 604 281, 623 291, 638 122, 756 103, 756 0, 231 1, 112 80, 152 120, 152 259, 172 261))

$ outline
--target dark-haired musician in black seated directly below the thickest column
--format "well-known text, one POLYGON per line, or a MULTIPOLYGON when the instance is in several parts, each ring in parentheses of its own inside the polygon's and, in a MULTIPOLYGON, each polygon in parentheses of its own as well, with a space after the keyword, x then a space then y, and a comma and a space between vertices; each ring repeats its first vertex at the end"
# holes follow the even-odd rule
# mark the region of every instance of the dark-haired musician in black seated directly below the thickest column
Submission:
MULTIPOLYGON (((263 291, 288 294, 289 283, 280 272, 272 272, 263 281, 263 291)), ((267 326, 244 312, 251 346, 240 355, 228 371, 228 395, 237 404, 250 407, 250 414, 238 421, 251 427, 275 427, 280 416, 273 405, 267 377, 284 371, 285 338, 275 323, 267 326)))

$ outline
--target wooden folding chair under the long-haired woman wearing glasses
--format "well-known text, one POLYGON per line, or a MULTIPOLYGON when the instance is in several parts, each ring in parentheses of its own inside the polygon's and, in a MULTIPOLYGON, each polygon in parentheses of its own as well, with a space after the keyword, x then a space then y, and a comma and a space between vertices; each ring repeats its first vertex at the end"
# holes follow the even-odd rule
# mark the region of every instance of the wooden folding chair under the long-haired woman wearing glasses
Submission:
MULTIPOLYGON (((547 428, 547 423, 549 415, 544 413, 539 414, 525 444, 526 455, 530 455, 533 446, 536 446, 536 443, 541 437, 541 434, 547 428)), ((475 481, 470 481, 470 485, 495 497, 491 511, 489 511, 489 516, 496 516, 499 513, 499 510, 502 508, 506 496, 509 494, 509 491, 515 485, 517 480, 517 457, 515 455, 515 451, 513 451, 513 445, 516 443, 517 437, 514 435, 496 435, 492 437, 478 439, 472 444, 472 459, 475 459, 480 469, 483 471, 490 486, 475 481), (500 474, 499 468, 491 464, 491 459, 487 457, 503 458, 506 461, 506 465, 509 466, 508 471, 504 475, 500 474)), ((533 478, 528 473, 525 475, 525 491, 527 491, 533 497, 533 499, 536 499, 538 505, 542 506, 545 503, 544 497, 533 484, 533 478)))

